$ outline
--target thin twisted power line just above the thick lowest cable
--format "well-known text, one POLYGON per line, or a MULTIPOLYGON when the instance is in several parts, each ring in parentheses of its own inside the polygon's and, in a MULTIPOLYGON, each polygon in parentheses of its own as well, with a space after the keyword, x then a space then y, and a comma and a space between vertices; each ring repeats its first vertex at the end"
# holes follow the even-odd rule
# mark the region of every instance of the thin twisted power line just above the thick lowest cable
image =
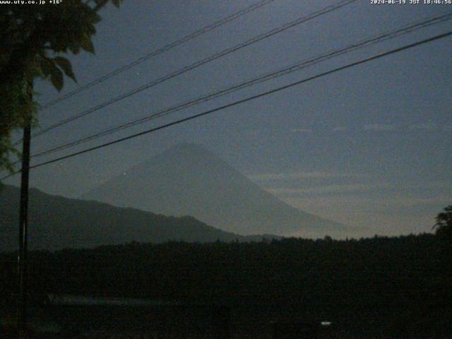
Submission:
POLYGON ((417 22, 417 23, 412 23, 412 24, 410 24, 408 26, 405 26, 404 28, 400 28, 398 30, 393 30, 391 32, 385 32, 383 34, 377 35, 376 37, 371 37, 371 38, 369 38, 367 40, 361 40, 361 41, 356 42, 354 44, 351 44, 351 45, 349 45, 347 47, 343 47, 343 48, 337 49, 337 50, 335 50, 333 52, 328 52, 327 54, 323 54, 320 57, 314 57, 314 58, 307 59, 307 60, 304 60, 304 61, 299 61, 297 64, 292 64, 290 66, 285 66, 283 69, 278 69, 277 71, 273 71, 271 73, 262 74, 261 76, 258 76, 257 78, 252 78, 252 79, 250 79, 248 81, 244 81, 242 83, 235 84, 235 85, 229 86, 227 88, 223 88, 222 90, 218 90, 218 91, 210 93, 208 95, 204 95, 203 97, 198 97, 197 99, 191 100, 189 102, 184 102, 182 104, 178 104, 178 105, 169 107, 167 109, 162 109, 159 112, 156 112, 154 114, 150 114, 150 115, 147 114, 144 117, 141 117, 139 119, 135 119, 133 121, 126 122, 125 124, 119 124, 117 126, 114 126, 114 127, 108 128, 108 129, 103 129, 102 131, 98 131, 98 132, 96 132, 94 134, 91 134, 90 136, 85 136, 85 137, 80 138, 80 139, 78 139, 76 141, 71 141, 69 143, 64 143, 63 145, 58 145, 58 146, 56 146, 54 148, 50 148, 48 150, 43 150, 42 152, 36 153, 36 154, 32 155, 31 157, 41 157, 43 155, 48 155, 50 153, 54 153, 54 152, 57 152, 59 150, 64 150, 66 148, 70 148, 70 147, 73 147, 73 146, 76 146, 76 145, 80 145, 81 143, 92 141, 92 140, 94 140, 96 138, 100 138, 102 136, 107 136, 107 135, 112 134, 112 133, 114 133, 116 131, 121 131, 123 129, 128 129, 129 127, 136 126, 138 124, 143 124, 143 123, 145 123, 147 121, 150 121, 150 120, 153 120, 153 119, 164 117, 167 114, 178 112, 178 111, 180 111, 182 109, 185 109, 187 107, 191 107, 191 106, 194 106, 194 105, 198 105, 198 104, 200 104, 202 102, 207 102, 209 100, 213 100, 213 99, 215 99, 217 97, 233 93, 233 92, 235 92, 237 90, 242 90, 242 89, 247 88, 247 87, 249 87, 251 85, 256 85, 258 83, 262 83, 264 81, 268 81, 268 80, 271 80, 273 78, 278 78, 280 76, 285 76, 285 75, 287 75, 289 73, 292 73, 292 72, 295 72, 295 71, 299 71, 301 69, 307 68, 308 66, 313 66, 313 65, 318 64, 318 63, 320 63, 322 61, 326 61, 328 59, 333 59, 333 57, 338 57, 340 55, 343 55, 343 54, 346 54, 346 53, 349 53, 349 52, 353 52, 353 51, 355 51, 357 49, 361 49, 363 47, 368 47, 371 44, 376 44, 376 43, 383 42, 383 41, 386 41, 386 40, 391 40, 391 39, 393 39, 395 37, 398 37, 400 35, 404 35, 404 34, 407 34, 407 33, 410 33, 410 32, 415 32, 416 30, 420 30, 422 28, 426 28, 426 27, 429 27, 431 25, 444 23, 446 20, 451 20, 451 18, 452 18, 452 11, 449 11, 448 13, 446 13, 446 14, 444 14, 442 16, 436 16, 434 18, 429 18, 429 19, 426 19, 426 20, 422 20, 422 21, 417 22))

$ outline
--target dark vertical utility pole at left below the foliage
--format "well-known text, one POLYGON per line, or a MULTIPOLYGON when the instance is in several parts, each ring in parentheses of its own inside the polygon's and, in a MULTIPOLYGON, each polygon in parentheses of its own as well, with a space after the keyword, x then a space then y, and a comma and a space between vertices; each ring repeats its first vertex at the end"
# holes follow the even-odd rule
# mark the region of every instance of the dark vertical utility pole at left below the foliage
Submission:
MULTIPOLYGON (((32 83, 30 83, 32 99, 32 83)), ((23 128, 22 173, 20 178, 19 253, 18 253, 18 338, 27 338, 27 237, 28 237, 28 178, 30 174, 31 114, 23 128)))

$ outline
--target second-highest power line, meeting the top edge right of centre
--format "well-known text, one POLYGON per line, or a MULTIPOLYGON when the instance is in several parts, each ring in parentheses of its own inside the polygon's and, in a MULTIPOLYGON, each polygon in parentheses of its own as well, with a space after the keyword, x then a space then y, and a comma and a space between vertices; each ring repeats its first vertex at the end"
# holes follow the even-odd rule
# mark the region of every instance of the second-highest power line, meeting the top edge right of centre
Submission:
MULTIPOLYGON (((91 114, 93 112, 96 112, 99 109, 102 109, 104 107, 112 105, 115 102, 119 102, 120 100, 124 100, 127 97, 130 97, 131 95, 135 95, 136 93, 140 93, 143 90, 147 90, 148 88, 151 88, 151 87, 153 87, 153 86, 155 86, 157 84, 163 83, 164 81, 167 81, 169 79, 175 78, 176 76, 179 76, 179 75, 181 75, 183 73, 186 73, 186 72, 191 71, 193 69, 196 69, 196 68, 198 68, 200 66, 203 66, 204 64, 207 64, 210 61, 214 61, 216 59, 219 59, 220 57, 224 57, 227 54, 231 54, 232 52, 236 52, 237 50, 242 49, 244 47, 247 47, 247 46, 249 46, 251 44, 255 44, 256 42, 264 40, 264 39, 266 39, 268 37, 271 37, 273 35, 276 35, 276 34, 278 34, 280 32, 284 32, 285 30, 288 30, 289 28, 295 27, 296 25, 300 25, 302 23, 306 23, 307 21, 312 20, 314 18, 317 18, 319 16, 322 16, 323 14, 329 13, 331 11, 335 11, 335 10, 337 10, 339 8, 342 8, 343 6, 347 6, 348 4, 352 4, 355 1, 357 1, 357 0, 342 0, 342 1, 339 1, 337 4, 334 4, 334 5, 331 5, 331 6, 327 6, 325 8, 322 8, 319 11, 315 11, 315 12, 309 14, 308 16, 304 16, 302 18, 298 18, 297 20, 293 20, 290 23, 285 23, 285 25, 282 25, 282 26, 280 26, 278 28, 273 28, 273 30, 270 30, 270 31, 265 32, 265 33, 262 33, 261 35, 257 35, 256 37, 252 37, 251 39, 246 40, 245 42, 242 42, 242 43, 237 44, 237 45, 235 45, 233 47, 224 49, 223 51, 215 53, 215 54, 211 55, 210 57, 207 57, 207 58, 202 59, 200 61, 196 61, 194 64, 191 64, 189 66, 185 66, 182 69, 174 71, 173 73, 169 73, 166 76, 163 76, 162 78, 158 78, 158 79, 156 79, 154 81, 150 81, 150 83, 146 83, 145 85, 141 85, 140 87, 135 88, 135 89, 129 91, 128 93, 124 93, 122 95, 114 97, 114 98, 112 98, 112 99, 110 99, 110 100, 108 100, 106 102, 102 102, 102 104, 100 104, 100 105, 97 105, 95 107, 91 107, 90 109, 88 109, 88 110, 86 110, 84 112, 81 112, 79 114, 73 115, 72 117, 69 117, 69 118, 64 119, 62 121, 59 121, 56 124, 53 124, 53 125, 45 128, 45 129, 42 129, 41 131, 33 133, 32 137, 40 136, 40 135, 42 135, 44 133, 47 133, 48 131, 51 131, 52 129, 56 129, 59 126, 62 126, 64 124, 68 124, 69 122, 74 121, 76 119, 80 119, 81 117, 85 117, 88 114, 91 114)), ((19 143, 19 142, 20 141, 18 141, 17 143, 19 143)), ((14 145, 17 145, 17 143, 15 143, 14 145)))

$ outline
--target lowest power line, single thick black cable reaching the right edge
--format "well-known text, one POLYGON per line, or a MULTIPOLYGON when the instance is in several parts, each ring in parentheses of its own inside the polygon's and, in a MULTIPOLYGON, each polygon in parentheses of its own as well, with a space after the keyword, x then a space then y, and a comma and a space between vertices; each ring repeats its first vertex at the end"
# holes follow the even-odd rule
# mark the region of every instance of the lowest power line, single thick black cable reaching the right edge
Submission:
MULTIPOLYGON (((53 160, 48 160, 46 162, 41 162, 40 164, 30 166, 30 169, 41 167, 41 166, 44 166, 44 165, 49 165, 49 164, 52 164, 53 162, 65 160, 65 159, 68 159, 70 157, 75 157, 76 155, 81 155, 83 153, 88 153, 88 152, 91 152, 93 150, 104 148, 104 147, 107 147, 109 145, 114 145, 115 143, 120 143, 122 141, 126 141, 126 140, 129 140, 129 139, 132 139, 132 138, 136 138, 138 136, 143 136, 143 135, 148 134, 148 133, 153 133, 155 131, 159 131, 160 129, 166 129, 167 127, 174 126, 174 125, 177 125, 177 124, 181 124, 182 122, 186 122, 186 121, 193 120, 193 119, 196 119, 196 118, 199 118, 199 117, 203 117, 205 115, 212 114, 214 112, 218 112, 218 111, 220 111, 222 109, 226 109, 226 108, 229 108, 229 107, 240 105, 240 104, 242 104, 244 102, 249 102, 251 100, 258 99, 259 97, 264 97, 266 95, 277 93, 277 92, 279 92, 281 90, 286 90, 287 88, 292 88, 292 87, 295 87, 296 85, 301 85, 302 83, 307 83, 308 81, 312 81, 314 79, 321 78, 323 76, 327 76, 329 74, 336 73, 338 71, 343 71, 344 69, 350 69, 351 67, 354 67, 354 66, 357 66, 357 65, 360 65, 360 64, 364 64, 364 63, 367 63, 369 61, 373 61, 373 60, 376 60, 376 59, 379 59, 379 58, 382 58, 382 57, 386 57, 386 56, 388 56, 390 54, 402 52, 402 51, 404 51, 406 49, 410 49, 410 48, 413 48, 413 47, 420 46, 421 44, 427 44, 428 42, 433 42, 435 40, 443 39, 444 37, 448 37, 448 36, 451 36, 451 35, 452 35, 452 31, 449 31, 449 32, 443 33, 441 35, 436 35, 434 37, 429 37, 428 39, 424 39, 424 40, 421 40, 421 41, 418 41, 418 42, 414 42, 412 44, 405 45, 403 47, 398 47, 396 49, 391 49, 388 52, 383 52, 381 54, 376 54, 376 55, 374 55, 374 57, 369 57, 369 58, 366 58, 366 59, 355 61, 355 62, 353 62, 351 64, 347 64, 345 66, 341 66, 341 67, 338 67, 336 69, 332 69, 330 71, 319 73, 316 76, 311 76, 309 78, 304 78, 304 79, 302 79, 300 81, 295 81, 294 83, 290 83, 288 85, 284 85, 284 86, 275 88, 273 90, 268 90, 267 92, 263 92, 263 93, 260 93, 258 95, 252 95, 251 97, 246 97, 245 99, 238 100, 238 101, 232 102, 232 103, 227 104, 227 105, 222 105, 222 106, 216 107, 214 109, 209 109, 206 112, 195 114, 195 115, 192 115, 191 117, 186 117, 184 119, 179 119, 177 121, 173 121, 173 122, 170 122, 168 124, 157 126, 157 127, 153 128, 153 129, 148 129, 148 130, 142 131, 140 133, 132 134, 131 136, 126 136, 124 138, 119 138, 119 139, 114 140, 114 141, 109 141, 108 143, 103 143, 102 145, 97 145, 97 146, 94 146, 94 147, 91 147, 91 148, 86 148, 85 150, 81 150, 81 151, 78 151, 78 152, 75 152, 75 153, 71 153, 69 155, 64 155, 63 157, 58 157, 58 158, 53 159, 53 160)), ((19 172, 21 172, 21 171, 18 170, 16 172, 8 174, 6 177, 1 178, 0 181, 4 180, 4 179, 7 179, 8 177, 12 177, 14 174, 17 174, 19 172)))

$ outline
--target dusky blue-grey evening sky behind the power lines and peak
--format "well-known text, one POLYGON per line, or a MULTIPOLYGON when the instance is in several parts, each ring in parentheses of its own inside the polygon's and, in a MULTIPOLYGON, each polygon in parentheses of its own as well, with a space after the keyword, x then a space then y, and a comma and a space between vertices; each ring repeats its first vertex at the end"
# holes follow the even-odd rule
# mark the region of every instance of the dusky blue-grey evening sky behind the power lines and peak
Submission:
MULTIPOLYGON (((41 104, 69 93, 254 1, 126 0, 100 12, 96 53, 70 56, 78 83, 36 81, 41 104)), ((32 153, 157 112, 381 32, 452 11, 452 5, 358 0, 32 139, 32 153)), ((40 126, 83 112, 335 1, 275 0, 41 111, 40 126)), ((128 136, 451 30, 440 25, 360 49, 168 117, 84 143, 128 136)), ((429 232, 452 203, 452 38, 355 66, 200 119, 34 169, 30 186, 76 198, 176 145, 203 145, 259 186, 309 213, 367 235, 429 232)), ((39 131, 39 129, 36 129, 39 131)), ((35 158, 32 164, 69 150, 35 158)), ((157 179, 157 178, 156 178, 157 179)), ((18 184, 18 176, 6 184, 18 184)))

